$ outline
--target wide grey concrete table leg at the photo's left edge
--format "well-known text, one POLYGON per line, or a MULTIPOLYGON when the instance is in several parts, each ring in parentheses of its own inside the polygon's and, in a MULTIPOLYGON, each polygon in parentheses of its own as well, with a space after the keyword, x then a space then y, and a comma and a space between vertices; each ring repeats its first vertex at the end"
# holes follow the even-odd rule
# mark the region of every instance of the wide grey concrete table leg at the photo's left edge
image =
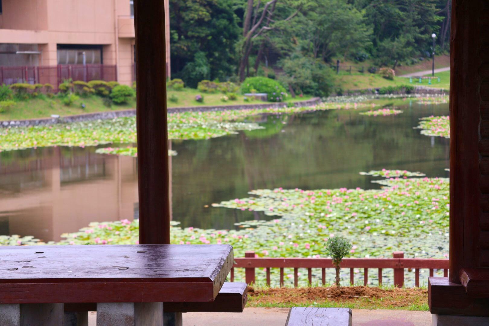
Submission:
POLYGON ((63 304, 0 304, 0 325, 63 325, 63 304))

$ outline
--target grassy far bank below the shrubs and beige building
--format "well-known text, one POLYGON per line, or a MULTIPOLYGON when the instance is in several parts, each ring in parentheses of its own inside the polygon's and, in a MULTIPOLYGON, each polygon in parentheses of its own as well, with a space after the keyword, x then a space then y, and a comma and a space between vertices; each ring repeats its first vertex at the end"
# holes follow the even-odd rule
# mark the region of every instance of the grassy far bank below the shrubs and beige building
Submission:
MULTIPOLYGON (((170 98, 172 94, 178 97, 178 102, 168 101, 168 107, 193 107, 193 106, 220 106, 220 105, 239 105, 239 104, 253 104, 253 103, 267 103, 262 101, 244 102, 244 96, 238 95, 235 101, 222 102, 222 93, 205 94, 199 92, 197 89, 185 88, 182 91, 168 90, 167 98, 170 98), (195 96, 202 94, 204 97, 203 103, 197 102, 195 96)), ((287 99, 287 102, 297 102, 311 99, 311 95, 305 95, 304 97, 295 97, 287 99)), ((269 102, 268 102, 269 103, 269 102)), ((136 107, 135 99, 132 99, 129 103, 124 105, 112 105, 108 108, 104 105, 102 98, 99 96, 80 97, 79 100, 71 107, 64 105, 58 98, 34 98, 26 101, 19 101, 12 108, 7 109, 5 112, 0 113, 0 121, 2 120, 16 120, 16 119, 35 119, 46 118, 51 114, 58 114, 60 116, 83 114, 91 112, 102 112, 121 109, 133 109, 136 107), (85 109, 82 109, 82 104, 85 104, 85 109)))

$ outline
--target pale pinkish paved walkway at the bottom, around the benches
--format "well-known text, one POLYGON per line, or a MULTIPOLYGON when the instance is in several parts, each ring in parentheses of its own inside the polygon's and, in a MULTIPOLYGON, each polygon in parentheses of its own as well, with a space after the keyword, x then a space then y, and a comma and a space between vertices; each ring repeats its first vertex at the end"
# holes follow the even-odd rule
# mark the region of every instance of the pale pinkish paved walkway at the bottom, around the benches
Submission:
MULTIPOLYGON (((288 308, 245 308, 243 313, 189 312, 184 326, 284 326, 288 308)), ((95 312, 89 313, 89 326, 95 326, 95 312)), ((429 326, 428 311, 353 309, 354 326, 429 326)))

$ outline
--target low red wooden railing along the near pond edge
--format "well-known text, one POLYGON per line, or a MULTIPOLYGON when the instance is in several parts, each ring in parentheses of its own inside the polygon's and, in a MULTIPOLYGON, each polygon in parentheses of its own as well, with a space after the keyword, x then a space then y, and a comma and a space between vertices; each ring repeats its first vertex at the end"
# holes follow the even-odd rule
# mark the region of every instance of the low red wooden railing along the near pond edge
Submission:
MULTIPOLYGON (((326 284, 326 269, 334 268, 333 261, 328 258, 255 258, 254 251, 247 251, 244 258, 235 258, 235 264, 231 268, 230 281, 234 282, 234 268, 244 268, 245 281, 248 284, 255 283, 255 268, 266 268, 267 285, 270 286, 270 268, 280 268, 280 286, 284 286, 284 268, 294 269, 294 286, 298 284, 299 268, 307 268, 308 281, 312 283, 312 268, 321 268, 321 281, 326 284)), ((345 258, 341 261, 341 268, 350 268, 350 283, 353 285, 354 269, 363 268, 363 284, 368 283, 368 269, 378 269, 378 283, 382 284, 382 270, 392 268, 394 270, 394 285, 404 285, 404 269, 415 269, 415 285, 420 286, 420 269, 429 269, 429 276, 433 276, 435 269, 443 269, 444 276, 448 276, 447 259, 422 259, 404 258, 402 251, 393 253, 393 258, 345 258)))

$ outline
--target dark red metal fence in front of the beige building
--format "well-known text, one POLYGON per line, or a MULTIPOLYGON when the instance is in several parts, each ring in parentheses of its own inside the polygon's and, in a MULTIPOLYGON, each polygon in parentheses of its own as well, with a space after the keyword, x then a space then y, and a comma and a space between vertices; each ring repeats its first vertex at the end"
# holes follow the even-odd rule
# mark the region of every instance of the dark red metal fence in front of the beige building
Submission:
POLYGON ((0 66, 0 85, 51 84, 58 87, 65 79, 89 82, 117 80, 115 65, 0 66))

